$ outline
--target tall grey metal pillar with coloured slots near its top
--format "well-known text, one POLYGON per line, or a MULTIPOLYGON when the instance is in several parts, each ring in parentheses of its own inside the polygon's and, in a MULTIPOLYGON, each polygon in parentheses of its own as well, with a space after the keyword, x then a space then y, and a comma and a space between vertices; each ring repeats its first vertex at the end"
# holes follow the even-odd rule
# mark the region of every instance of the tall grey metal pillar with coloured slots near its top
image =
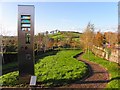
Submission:
POLYGON ((19 81, 29 83, 34 75, 34 6, 18 5, 19 81))

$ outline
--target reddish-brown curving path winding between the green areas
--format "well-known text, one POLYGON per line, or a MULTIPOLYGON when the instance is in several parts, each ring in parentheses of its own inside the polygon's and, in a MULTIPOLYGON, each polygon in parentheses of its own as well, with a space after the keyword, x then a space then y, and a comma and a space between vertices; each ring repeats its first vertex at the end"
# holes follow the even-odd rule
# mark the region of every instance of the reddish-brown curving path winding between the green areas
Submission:
POLYGON ((82 54, 77 59, 88 65, 90 73, 84 79, 61 88, 105 88, 109 82, 109 73, 107 70, 99 64, 82 59, 82 54))

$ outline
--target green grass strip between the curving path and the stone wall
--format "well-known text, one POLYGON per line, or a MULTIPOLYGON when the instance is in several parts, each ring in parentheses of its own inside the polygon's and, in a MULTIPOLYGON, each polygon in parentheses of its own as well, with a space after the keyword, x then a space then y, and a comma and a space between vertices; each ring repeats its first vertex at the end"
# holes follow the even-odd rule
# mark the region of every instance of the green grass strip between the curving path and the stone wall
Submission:
POLYGON ((114 62, 107 61, 100 57, 95 56, 92 52, 86 52, 83 54, 82 58, 90 60, 92 62, 98 63, 108 70, 110 73, 110 82, 106 88, 120 88, 120 67, 114 62))

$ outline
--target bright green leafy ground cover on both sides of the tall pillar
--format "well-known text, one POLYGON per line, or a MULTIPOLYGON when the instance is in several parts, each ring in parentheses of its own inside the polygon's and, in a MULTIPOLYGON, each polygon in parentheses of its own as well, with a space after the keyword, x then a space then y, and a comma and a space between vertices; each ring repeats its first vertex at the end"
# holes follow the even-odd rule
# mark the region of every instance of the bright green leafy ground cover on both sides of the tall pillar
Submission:
MULTIPOLYGON (((81 50, 63 50, 40 59, 35 64, 37 82, 43 86, 59 86, 81 79, 88 69, 83 62, 73 58, 80 52, 81 50)), ((3 86, 19 86, 18 71, 1 76, 0 83, 3 83, 3 86)))

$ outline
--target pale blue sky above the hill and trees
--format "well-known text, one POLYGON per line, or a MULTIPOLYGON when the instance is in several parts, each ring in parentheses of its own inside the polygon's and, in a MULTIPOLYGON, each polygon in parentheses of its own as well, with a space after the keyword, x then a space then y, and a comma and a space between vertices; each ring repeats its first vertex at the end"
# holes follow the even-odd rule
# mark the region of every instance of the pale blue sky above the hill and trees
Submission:
POLYGON ((2 2, 0 34, 17 35, 18 5, 35 6, 35 34, 56 29, 83 32, 88 22, 95 31, 117 31, 117 2, 2 2))

